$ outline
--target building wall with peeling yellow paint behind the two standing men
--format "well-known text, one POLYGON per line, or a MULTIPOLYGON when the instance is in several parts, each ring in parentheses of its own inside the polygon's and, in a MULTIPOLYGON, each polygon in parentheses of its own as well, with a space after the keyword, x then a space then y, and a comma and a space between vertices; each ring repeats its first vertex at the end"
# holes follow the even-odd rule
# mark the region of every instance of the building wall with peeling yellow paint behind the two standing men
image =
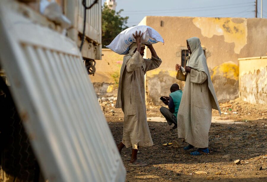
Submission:
MULTIPOLYGON (((267 19, 260 18, 203 18, 203 17, 145 17, 139 25, 148 25, 164 38, 164 45, 154 48, 162 59, 161 66, 147 72, 147 98, 160 104, 159 97, 169 94, 175 79, 175 64, 181 64, 181 50, 186 39, 198 37, 205 49, 207 64, 219 101, 238 97, 238 58, 265 56, 267 53, 267 19)), ((146 49, 145 56, 150 58, 146 49)))

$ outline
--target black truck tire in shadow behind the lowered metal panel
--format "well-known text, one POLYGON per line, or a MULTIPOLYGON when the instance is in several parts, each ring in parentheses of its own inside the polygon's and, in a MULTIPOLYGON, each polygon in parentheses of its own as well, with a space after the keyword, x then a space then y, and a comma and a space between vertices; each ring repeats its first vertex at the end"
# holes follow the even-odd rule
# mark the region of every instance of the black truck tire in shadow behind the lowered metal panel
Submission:
POLYGON ((4 182, 39 181, 40 170, 8 86, 0 80, 1 175, 4 182))

